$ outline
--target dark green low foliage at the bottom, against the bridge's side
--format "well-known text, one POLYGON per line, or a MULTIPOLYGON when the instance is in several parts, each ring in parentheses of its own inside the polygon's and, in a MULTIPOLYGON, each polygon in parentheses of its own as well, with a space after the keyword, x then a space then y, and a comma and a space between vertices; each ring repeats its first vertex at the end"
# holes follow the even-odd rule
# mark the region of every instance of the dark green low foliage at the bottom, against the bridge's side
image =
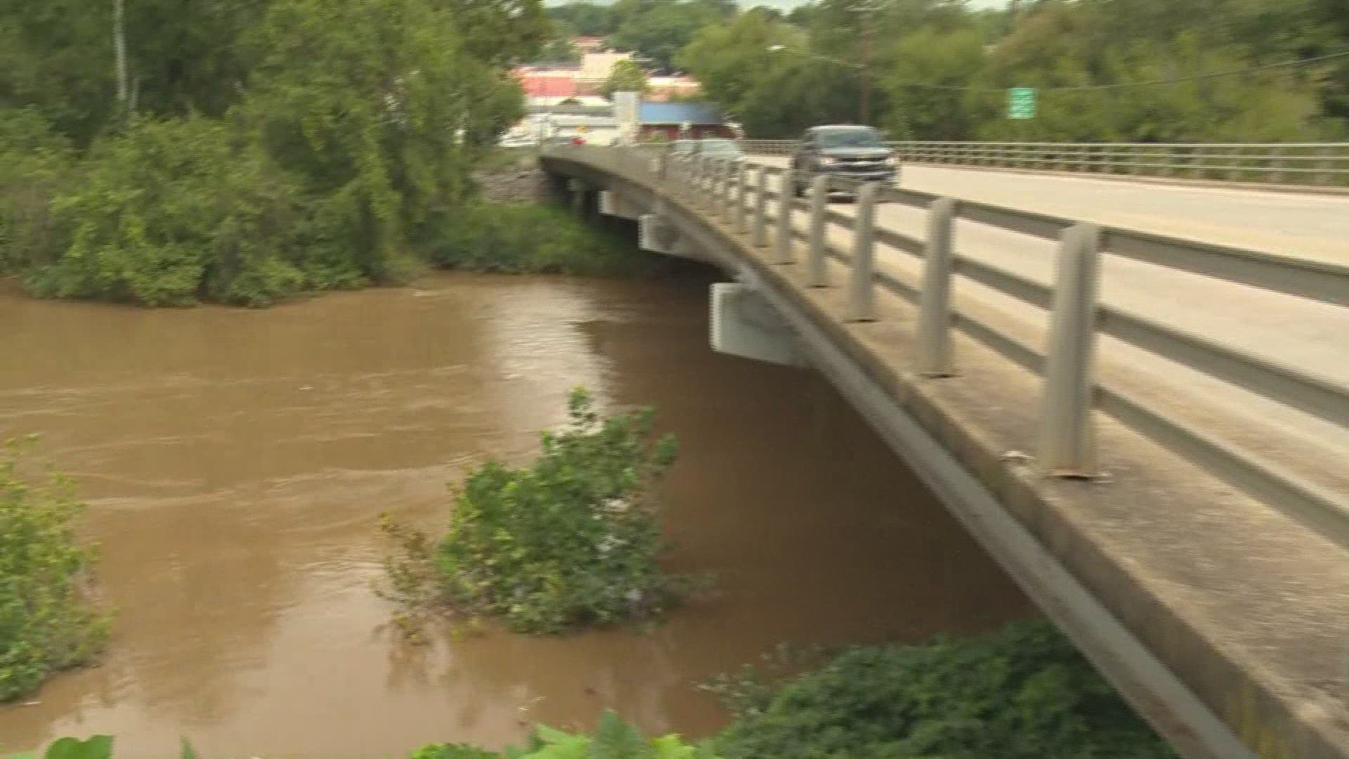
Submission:
POLYGON ((1175 756, 1050 623, 851 648, 727 705, 728 759, 1175 756))

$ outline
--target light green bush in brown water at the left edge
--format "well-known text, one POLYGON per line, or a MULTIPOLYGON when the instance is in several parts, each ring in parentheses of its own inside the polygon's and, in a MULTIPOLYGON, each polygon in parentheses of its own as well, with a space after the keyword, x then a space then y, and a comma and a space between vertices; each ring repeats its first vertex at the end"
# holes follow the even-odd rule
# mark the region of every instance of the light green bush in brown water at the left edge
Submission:
POLYGON ((108 616, 89 602, 93 550, 71 524, 84 506, 65 477, 30 485, 24 447, 0 447, 0 701, 88 662, 108 635, 108 616))

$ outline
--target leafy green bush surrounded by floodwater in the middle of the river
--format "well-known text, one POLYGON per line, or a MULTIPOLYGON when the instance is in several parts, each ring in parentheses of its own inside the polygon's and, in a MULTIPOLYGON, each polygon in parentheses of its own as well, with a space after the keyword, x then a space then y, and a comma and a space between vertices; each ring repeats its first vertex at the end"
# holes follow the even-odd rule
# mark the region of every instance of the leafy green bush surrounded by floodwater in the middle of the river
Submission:
POLYGON ((649 409, 602 420, 584 390, 568 409, 571 425, 542 434, 533 465, 488 462, 468 477, 438 543, 386 520, 399 547, 387 597, 561 633, 658 614, 689 590, 691 578, 658 565, 654 490, 674 440, 653 440, 649 409))

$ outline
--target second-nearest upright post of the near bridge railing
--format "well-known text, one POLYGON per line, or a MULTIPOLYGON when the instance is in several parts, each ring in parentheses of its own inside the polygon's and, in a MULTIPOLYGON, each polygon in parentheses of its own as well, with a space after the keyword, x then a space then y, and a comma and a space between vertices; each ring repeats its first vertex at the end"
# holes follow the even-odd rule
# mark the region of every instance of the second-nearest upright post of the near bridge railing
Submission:
POLYGON ((950 377, 951 359, 951 223, 955 201, 939 197, 928 205, 928 236, 923 255, 919 311, 919 374, 950 377))

